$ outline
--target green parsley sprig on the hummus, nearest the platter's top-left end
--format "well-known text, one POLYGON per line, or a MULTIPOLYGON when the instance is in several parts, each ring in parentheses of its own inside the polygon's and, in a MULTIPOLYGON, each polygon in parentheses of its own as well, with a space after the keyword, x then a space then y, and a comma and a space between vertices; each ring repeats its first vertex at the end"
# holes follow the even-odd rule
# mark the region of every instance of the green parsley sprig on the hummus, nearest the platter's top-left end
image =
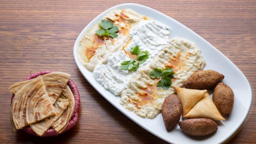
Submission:
POLYGON ((97 30, 97 35, 103 35, 105 37, 111 36, 112 38, 117 37, 118 28, 117 26, 114 26, 114 24, 111 21, 102 20, 99 25, 103 29, 97 30))

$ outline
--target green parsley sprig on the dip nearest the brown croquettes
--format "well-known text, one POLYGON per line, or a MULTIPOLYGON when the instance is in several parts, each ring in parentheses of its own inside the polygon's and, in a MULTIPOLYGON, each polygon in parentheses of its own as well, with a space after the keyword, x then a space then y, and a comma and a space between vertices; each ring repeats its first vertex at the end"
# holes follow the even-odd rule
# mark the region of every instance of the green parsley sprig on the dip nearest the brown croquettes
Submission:
POLYGON ((171 78, 174 77, 174 72, 169 67, 166 67, 164 71, 160 68, 155 68, 150 72, 149 76, 158 79, 161 77, 161 80, 157 82, 156 86, 167 90, 171 86, 171 78))

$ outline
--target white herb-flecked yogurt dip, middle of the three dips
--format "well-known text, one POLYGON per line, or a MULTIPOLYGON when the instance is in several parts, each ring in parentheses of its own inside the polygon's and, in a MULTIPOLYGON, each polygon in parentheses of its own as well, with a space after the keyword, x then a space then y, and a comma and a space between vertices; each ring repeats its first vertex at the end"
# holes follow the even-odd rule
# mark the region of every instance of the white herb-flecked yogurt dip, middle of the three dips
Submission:
MULTIPOLYGON (((125 49, 129 52, 132 47, 139 46, 140 50, 149 51, 149 59, 139 65, 139 68, 150 63, 156 54, 170 43, 170 28, 157 21, 141 21, 138 27, 130 32, 131 43, 125 49)), ((124 51, 118 50, 108 58, 107 64, 97 65, 93 71, 94 79, 114 95, 120 95, 127 87, 128 81, 135 74, 121 70, 121 63, 130 60, 124 51)))

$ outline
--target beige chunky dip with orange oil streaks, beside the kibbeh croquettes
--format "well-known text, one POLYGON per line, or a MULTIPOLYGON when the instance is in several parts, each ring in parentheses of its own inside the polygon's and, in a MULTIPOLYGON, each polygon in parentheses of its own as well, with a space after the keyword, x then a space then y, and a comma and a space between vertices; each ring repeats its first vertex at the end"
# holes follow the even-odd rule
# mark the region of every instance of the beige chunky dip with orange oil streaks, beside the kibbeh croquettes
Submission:
POLYGON ((192 73, 203 70, 205 64, 194 42, 178 37, 171 39, 167 48, 130 78, 128 88, 121 92, 120 103, 138 116, 153 119, 160 113, 164 99, 175 93, 173 87, 181 87, 192 73), (174 70, 171 87, 167 90, 156 87, 159 79, 149 77, 155 68, 164 70, 165 67, 174 70))

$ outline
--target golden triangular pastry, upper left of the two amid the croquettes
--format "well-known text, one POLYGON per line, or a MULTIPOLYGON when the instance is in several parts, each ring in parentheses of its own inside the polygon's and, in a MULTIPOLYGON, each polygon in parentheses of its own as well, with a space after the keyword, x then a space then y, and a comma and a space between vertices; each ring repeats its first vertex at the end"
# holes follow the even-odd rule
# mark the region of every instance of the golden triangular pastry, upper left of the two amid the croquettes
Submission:
POLYGON ((184 117, 199 102, 207 90, 196 90, 174 87, 182 104, 182 117, 184 117))

